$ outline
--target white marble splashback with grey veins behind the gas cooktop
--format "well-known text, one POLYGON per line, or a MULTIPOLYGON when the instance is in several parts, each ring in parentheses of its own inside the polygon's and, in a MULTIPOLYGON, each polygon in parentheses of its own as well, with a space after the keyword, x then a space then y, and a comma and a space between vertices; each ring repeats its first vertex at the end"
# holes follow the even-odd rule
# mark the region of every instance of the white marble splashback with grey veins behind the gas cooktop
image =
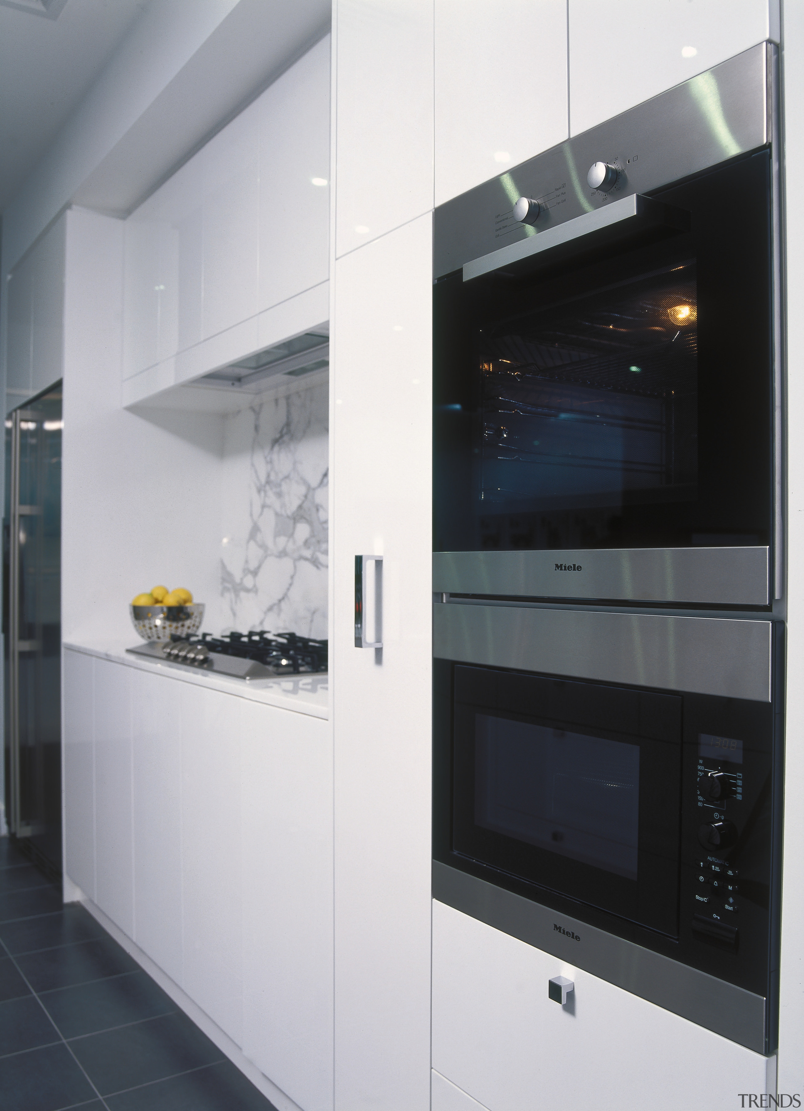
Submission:
POLYGON ((326 637, 328 468, 325 382, 224 418, 220 600, 207 629, 326 637))

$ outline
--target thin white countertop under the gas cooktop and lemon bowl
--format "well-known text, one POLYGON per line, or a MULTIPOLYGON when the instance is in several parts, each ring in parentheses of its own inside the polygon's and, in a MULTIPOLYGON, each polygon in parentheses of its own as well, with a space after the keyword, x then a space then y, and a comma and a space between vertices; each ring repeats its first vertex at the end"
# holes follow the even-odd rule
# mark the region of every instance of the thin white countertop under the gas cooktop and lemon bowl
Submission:
POLYGON ((328 675, 297 675, 292 679, 228 679, 224 675, 211 675, 209 672, 193 671, 184 664, 170 663, 160 660, 149 660, 143 655, 132 655, 127 648, 130 643, 87 643, 64 641, 64 648, 73 652, 84 652, 114 663, 124 663, 129 668, 150 671, 152 674, 177 679, 179 682, 207 687, 212 690, 234 694, 238 698, 250 699, 252 702, 264 702, 282 710, 293 710, 306 713, 313 718, 329 718, 330 694, 328 675))

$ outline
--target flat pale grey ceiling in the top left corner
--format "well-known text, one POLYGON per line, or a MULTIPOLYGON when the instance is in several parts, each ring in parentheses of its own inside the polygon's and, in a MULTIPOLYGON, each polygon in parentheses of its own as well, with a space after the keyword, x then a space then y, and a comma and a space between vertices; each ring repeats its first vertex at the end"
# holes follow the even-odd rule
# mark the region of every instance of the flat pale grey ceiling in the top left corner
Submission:
POLYGON ((0 212, 149 0, 67 0, 58 18, 0 6, 0 212))

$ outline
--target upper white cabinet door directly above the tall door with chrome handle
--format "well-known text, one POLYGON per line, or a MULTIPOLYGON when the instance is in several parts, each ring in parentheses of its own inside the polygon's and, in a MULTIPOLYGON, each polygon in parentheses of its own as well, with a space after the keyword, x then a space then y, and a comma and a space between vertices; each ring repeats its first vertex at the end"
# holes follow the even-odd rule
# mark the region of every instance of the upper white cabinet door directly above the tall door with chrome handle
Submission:
POLYGON ((335 250, 433 207, 433 0, 336 0, 335 250))

